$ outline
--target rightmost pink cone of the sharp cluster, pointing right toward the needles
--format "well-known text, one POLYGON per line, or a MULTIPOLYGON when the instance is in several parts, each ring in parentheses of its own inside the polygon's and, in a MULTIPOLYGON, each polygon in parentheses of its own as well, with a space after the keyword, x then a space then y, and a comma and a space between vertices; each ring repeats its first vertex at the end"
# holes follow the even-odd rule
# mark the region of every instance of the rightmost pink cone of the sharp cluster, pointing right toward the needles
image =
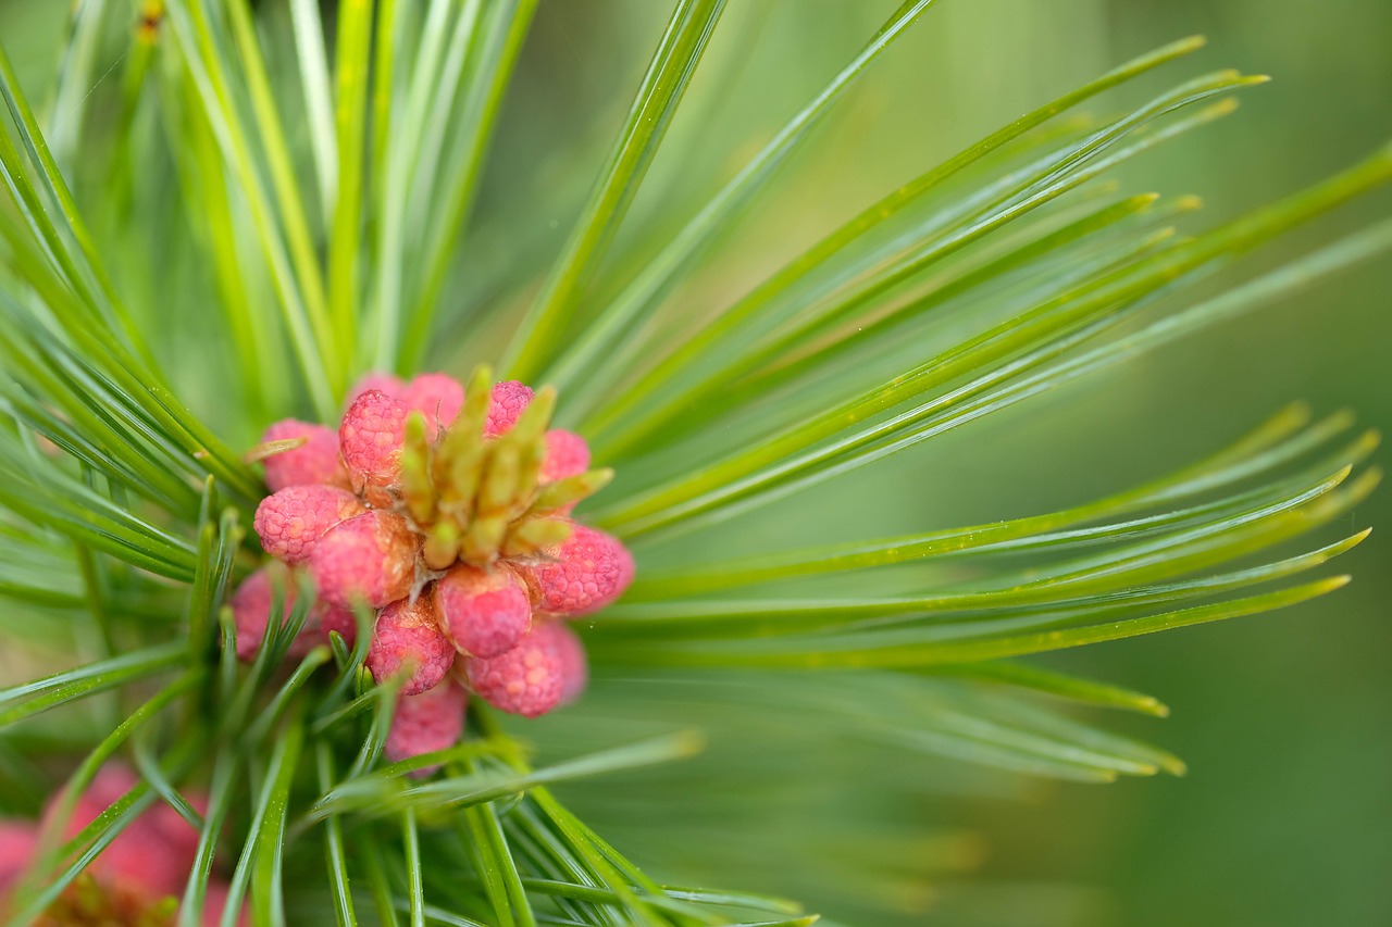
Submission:
POLYGON ((529 564, 523 576, 539 611, 575 618, 611 604, 633 582, 633 557, 624 543, 586 525, 576 525, 553 562, 529 564))

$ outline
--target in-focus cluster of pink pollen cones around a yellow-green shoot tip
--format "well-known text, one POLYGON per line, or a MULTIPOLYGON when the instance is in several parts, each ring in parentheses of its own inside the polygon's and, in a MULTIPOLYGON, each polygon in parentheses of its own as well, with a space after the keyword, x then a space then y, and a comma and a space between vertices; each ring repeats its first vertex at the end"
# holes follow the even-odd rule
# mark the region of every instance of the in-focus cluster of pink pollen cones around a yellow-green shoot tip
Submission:
POLYGON ((548 430, 554 394, 487 370, 468 390, 438 373, 372 374, 337 431, 271 425, 259 450, 271 494, 256 509, 276 560, 232 596, 238 656, 255 656, 281 589, 306 572, 317 601, 292 654, 376 614, 366 665, 400 682, 386 752, 444 749, 466 692, 536 717, 575 699, 585 650, 565 619, 612 603, 633 578, 618 539, 571 519, 611 476, 589 448, 548 430))

